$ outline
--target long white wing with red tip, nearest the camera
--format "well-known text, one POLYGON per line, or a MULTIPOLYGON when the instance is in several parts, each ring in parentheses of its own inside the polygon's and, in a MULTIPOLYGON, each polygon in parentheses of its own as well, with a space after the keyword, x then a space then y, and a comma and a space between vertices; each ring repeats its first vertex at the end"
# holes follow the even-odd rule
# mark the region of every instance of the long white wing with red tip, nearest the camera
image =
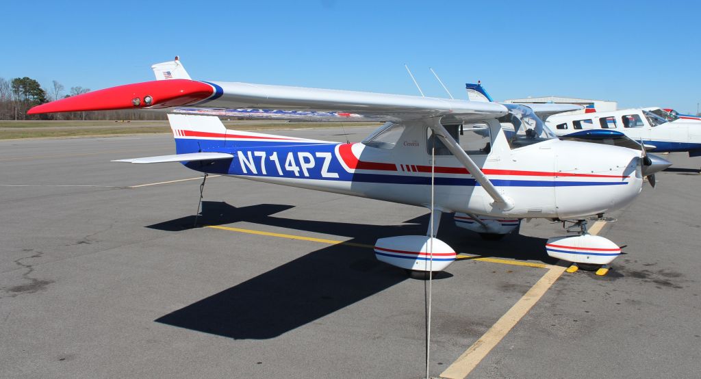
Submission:
POLYGON ((484 120, 498 118, 508 112, 501 104, 466 100, 170 79, 88 92, 35 106, 27 113, 115 109, 161 110, 210 116, 395 122, 431 117, 456 121, 484 120))

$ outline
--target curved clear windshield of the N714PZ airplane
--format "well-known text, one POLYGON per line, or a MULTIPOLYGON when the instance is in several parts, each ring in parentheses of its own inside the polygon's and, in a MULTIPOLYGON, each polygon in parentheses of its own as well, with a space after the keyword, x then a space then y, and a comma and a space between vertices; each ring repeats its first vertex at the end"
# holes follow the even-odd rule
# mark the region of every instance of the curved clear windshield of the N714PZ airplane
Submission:
POLYGON ((513 135, 508 136, 512 149, 537 144, 555 138, 550 128, 540 120, 533 109, 519 104, 502 104, 509 110, 504 122, 514 125, 513 135))

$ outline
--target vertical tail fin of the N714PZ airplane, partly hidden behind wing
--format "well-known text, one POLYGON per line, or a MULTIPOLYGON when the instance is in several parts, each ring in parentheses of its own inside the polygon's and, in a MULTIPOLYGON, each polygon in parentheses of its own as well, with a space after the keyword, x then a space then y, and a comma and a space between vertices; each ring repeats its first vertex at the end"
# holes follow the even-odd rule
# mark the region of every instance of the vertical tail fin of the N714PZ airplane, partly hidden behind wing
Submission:
MULTIPOLYGON (((156 80, 190 79, 178 57, 171 62, 156 63, 151 66, 156 80)), ((194 153, 208 147, 224 144, 226 127, 217 116, 199 116, 168 113, 168 123, 175 137, 175 151, 178 154, 194 153), (198 143, 198 141, 200 143, 198 143)))

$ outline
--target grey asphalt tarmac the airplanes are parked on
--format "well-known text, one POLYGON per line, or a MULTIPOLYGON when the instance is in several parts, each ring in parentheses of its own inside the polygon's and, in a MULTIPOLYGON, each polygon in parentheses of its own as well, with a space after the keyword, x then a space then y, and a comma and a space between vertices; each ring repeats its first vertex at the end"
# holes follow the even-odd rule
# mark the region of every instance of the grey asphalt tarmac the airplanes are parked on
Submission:
MULTIPOLYGON (((426 209, 212 177, 193 227, 197 172, 109 162, 173 151, 170 135, 0 141, 1 377, 424 375, 427 282, 367 245, 426 233, 426 209)), ((599 235, 627 245, 611 272, 562 274, 470 377, 697 377, 701 159, 667 158, 657 188, 606 215, 599 235)), ((433 281, 435 377, 557 263, 543 245, 563 234, 532 221, 487 242, 450 216, 438 237, 491 260, 433 281)))

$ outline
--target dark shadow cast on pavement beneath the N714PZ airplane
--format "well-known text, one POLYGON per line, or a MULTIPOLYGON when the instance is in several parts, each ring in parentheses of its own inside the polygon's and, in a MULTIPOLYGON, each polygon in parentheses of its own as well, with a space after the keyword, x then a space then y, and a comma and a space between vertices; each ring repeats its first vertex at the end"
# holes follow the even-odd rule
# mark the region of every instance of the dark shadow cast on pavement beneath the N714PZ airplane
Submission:
MULTIPOLYGON (((203 207, 203 215, 200 217, 203 223, 206 221, 210 225, 247 221, 315 233, 340 233, 352 237, 348 242, 360 244, 374 244, 379 237, 421 235, 426 233, 428 225, 428 215, 409 220, 400 226, 371 226, 270 216, 289 209, 290 206, 287 205, 236 208, 225 202, 205 203, 209 204, 203 207), (213 213, 207 214, 208 212, 213 213)), ((452 239, 447 238, 449 234, 460 233, 459 236, 465 235, 467 231, 456 228, 452 219, 448 217, 451 215, 445 216, 439 237, 450 244, 448 240, 452 239)), ((184 219, 157 225, 172 223, 177 226, 182 224, 184 219)), ((491 256, 502 256, 494 254, 495 244, 517 244, 519 251, 541 251, 544 244, 541 239, 524 236, 515 241, 507 240, 517 235, 508 236, 500 242, 479 241, 480 243, 475 244, 473 242, 479 237, 474 237, 463 237, 462 243, 468 244, 473 254, 491 256), (538 240, 538 249, 530 248, 531 244, 536 244, 536 241, 532 240, 538 240)), ((505 248, 500 250, 503 249, 505 248)), ((456 251, 462 250, 456 247, 456 251)), ((529 256, 528 259, 533 259, 533 256, 529 256)), ((454 263, 448 271, 459 267, 456 265, 459 265, 459 262, 454 263)), ((437 279, 444 280, 452 276, 450 273, 441 273, 437 275, 437 279)), ((336 244, 312 251, 155 321, 235 339, 275 338, 408 279, 404 270, 377 261, 372 249, 336 244)))

